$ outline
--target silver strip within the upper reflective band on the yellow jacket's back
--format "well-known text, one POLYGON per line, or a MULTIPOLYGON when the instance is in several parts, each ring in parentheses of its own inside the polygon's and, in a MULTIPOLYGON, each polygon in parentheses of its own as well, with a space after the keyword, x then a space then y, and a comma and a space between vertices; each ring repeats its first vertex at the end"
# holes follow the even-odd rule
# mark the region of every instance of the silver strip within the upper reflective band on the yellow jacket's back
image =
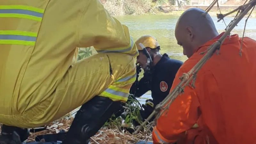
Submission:
POLYGON ((22 9, 0 9, 0 13, 15 13, 15 14, 27 14, 31 16, 36 16, 43 18, 44 13, 34 12, 30 10, 22 10, 22 9))

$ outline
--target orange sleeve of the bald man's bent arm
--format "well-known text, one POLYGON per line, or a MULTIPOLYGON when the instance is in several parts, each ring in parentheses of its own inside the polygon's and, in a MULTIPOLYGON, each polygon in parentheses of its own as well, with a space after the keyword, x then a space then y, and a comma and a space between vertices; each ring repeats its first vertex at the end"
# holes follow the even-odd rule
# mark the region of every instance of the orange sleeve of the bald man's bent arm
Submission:
MULTIPOLYGON (((180 82, 179 77, 185 71, 180 68, 174 79, 171 91, 180 82)), ((185 132, 191 129, 198 119, 199 101, 195 90, 186 86, 184 93, 180 94, 169 106, 168 113, 164 113, 157 119, 153 128, 154 144, 175 143, 185 136, 185 132)))

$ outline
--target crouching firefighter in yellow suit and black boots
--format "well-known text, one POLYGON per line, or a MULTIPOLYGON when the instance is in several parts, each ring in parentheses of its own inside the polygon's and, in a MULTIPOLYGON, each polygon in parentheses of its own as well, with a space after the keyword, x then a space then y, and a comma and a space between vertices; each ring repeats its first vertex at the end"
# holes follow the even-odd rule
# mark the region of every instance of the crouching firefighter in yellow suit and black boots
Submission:
POLYGON ((138 50, 99 0, 1 0, 0 21, 2 135, 23 141, 82 105, 63 144, 84 143, 127 100, 138 50), (98 54, 72 63, 89 46, 98 54))

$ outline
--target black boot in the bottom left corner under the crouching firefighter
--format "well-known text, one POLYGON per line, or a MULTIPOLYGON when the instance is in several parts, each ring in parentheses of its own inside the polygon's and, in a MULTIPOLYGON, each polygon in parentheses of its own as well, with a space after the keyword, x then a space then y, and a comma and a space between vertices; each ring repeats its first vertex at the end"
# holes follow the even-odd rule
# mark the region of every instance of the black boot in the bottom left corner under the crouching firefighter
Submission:
POLYGON ((2 125, 1 127, 1 139, 0 142, 3 141, 17 141, 17 135, 19 136, 19 140, 21 142, 28 139, 29 130, 24 128, 19 128, 15 126, 2 125))

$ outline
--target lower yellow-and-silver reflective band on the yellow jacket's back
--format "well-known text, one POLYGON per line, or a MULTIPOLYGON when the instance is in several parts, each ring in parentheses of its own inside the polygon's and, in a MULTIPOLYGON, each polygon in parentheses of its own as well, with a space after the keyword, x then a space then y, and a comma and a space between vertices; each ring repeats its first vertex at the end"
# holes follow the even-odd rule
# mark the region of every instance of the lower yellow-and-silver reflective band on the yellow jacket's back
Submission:
POLYGON ((15 30, 0 30, 0 44, 35 45, 37 33, 15 30))

